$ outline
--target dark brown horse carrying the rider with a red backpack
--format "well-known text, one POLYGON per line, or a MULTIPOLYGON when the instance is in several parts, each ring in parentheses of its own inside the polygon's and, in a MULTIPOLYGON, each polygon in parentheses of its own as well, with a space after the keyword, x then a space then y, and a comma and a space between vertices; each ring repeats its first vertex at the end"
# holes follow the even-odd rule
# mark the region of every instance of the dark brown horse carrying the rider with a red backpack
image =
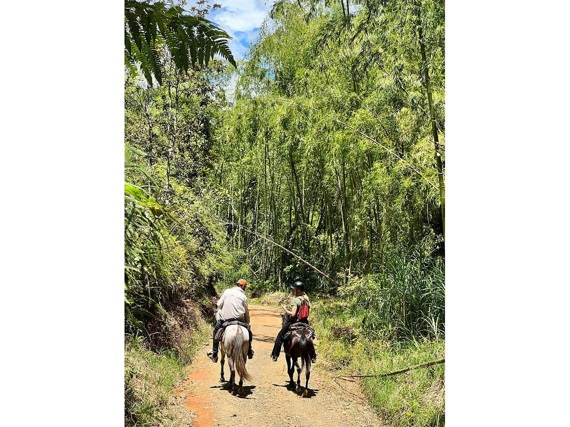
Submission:
MULTIPOLYGON (((281 314, 282 326, 285 326, 289 319, 288 314, 281 314)), ((315 353, 315 346, 313 344, 313 332, 309 329, 308 325, 305 326, 304 323, 296 323, 299 325, 299 329, 291 330, 291 335, 289 338, 283 342, 283 350, 285 351, 285 359, 287 360, 287 373, 289 374, 289 384, 294 387, 295 381, 293 381, 293 369, 297 368, 297 387, 296 391, 301 391, 300 376, 303 368, 306 368, 305 376, 307 381, 305 382, 305 389, 303 391, 303 397, 308 395, 308 385, 309 377, 311 376, 311 355, 315 353), (297 359, 301 359, 301 367, 297 359), (293 363, 291 363, 293 359, 293 363)))

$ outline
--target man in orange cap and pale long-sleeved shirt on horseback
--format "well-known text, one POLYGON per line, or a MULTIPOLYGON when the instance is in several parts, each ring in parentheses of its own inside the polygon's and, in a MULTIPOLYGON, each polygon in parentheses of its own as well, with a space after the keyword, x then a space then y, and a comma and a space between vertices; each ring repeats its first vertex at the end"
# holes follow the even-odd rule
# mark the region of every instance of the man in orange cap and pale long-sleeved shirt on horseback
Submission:
MULTIPOLYGON (((207 356, 212 362, 218 362, 218 342, 215 340, 215 334, 222 327, 224 322, 242 321, 250 323, 249 308, 247 307, 247 296, 245 290, 247 281, 239 279, 233 288, 223 291, 222 296, 218 299, 216 306, 218 307, 217 322, 213 333, 212 350, 207 352, 207 356)), ((253 358, 253 350, 251 350, 251 340, 247 356, 253 358)))

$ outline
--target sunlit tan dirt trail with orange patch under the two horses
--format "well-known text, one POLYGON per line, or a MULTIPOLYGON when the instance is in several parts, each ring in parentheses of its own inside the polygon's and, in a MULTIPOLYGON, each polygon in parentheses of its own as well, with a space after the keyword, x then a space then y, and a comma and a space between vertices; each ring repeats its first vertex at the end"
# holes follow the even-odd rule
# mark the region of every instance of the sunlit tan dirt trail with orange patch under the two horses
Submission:
MULTIPOLYGON (((206 357, 211 340, 202 351, 203 356, 189 367, 189 379, 176 389, 181 425, 196 427, 361 427, 380 424, 378 417, 365 403, 354 384, 339 384, 322 369, 321 362, 312 365, 309 395, 306 398, 294 389, 288 389, 287 362, 283 351, 278 362, 270 354, 279 332, 280 307, 250 306, 251 331, 254 334, 255 356, 247 360, 247 371, 254 377, 245 382, 242 395, 233 396, 219 382, 220 364, 206 357)), ((316 341, 319 352, 318 336, 316 341)), ((224 366, 226 380, 230 377, 227 360, 224 366)), ((294 373, 296 381, 297 373, 294 373)), ((236 374, 236 381, 239 376, 236 374)), ((305 374, 301 373, 304 385, 305 374)))

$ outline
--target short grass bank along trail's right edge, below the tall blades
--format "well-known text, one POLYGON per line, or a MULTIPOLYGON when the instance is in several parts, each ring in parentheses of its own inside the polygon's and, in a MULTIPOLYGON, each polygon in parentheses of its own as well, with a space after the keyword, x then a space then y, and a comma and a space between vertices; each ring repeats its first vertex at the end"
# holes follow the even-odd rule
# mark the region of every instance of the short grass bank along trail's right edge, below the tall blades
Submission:
MULTIPOLYGON (((252 302, 279 305, 287 294, 274 292, 252 302)), ((311 295, 311 325, 317 334, 319 364, 335 376, 357 381, 386 425, 445 426, 445 363, 393 376, 378 376, 445 358, 445 334, 427 338, 378 339, 363 328, 349 303, 311 295)), ((343 381, 344 381, 343 380, 343 381)))

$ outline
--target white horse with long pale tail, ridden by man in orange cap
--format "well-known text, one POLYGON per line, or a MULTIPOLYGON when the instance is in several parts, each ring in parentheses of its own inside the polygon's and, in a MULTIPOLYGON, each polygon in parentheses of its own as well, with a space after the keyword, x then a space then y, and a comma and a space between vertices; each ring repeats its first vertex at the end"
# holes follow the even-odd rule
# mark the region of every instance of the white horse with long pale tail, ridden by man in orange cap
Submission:
POLYGON ((246 369, 247 351, 249 350, 249 331, 239 325, 226 327, 226 331, 223 333, 223 339, 219 343, 219 348, 222 351, 220 381, 225 381, 223 378, 223 362, 227 354, 227 364, 231 372, 229 383, 231 392, 234 396, 237 395, 237 393, 243 393, 243 380, 251 381, 252 379, 246 369), (235 371, 238 371, 239 374, 239 389, 235 387, 235 371))

